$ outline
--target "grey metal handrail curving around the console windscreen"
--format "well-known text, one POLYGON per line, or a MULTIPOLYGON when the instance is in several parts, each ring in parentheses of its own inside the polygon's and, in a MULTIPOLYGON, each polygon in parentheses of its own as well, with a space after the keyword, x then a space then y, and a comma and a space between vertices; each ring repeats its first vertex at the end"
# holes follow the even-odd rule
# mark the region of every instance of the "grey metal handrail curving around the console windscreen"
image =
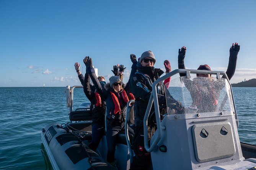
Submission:
POLYGON ((160 111, 159 111, 159 105, 158 105, 158 98, 157 98, 157 84, 162 82, 163 80, 175 75, 175 74, 179 74, 179 73, 183 73, 183 74, 215 74, 215 75, 223 75, 223 77, 225 79, 228 80, 228 83, 230 85, 230 89, 231 89, 231 94, 232 94, 232 100, 233 100, 233 104, 234 104, 234 109, 235 109, 235 119, 236 119, 236 126, 238 127, 238 118, 237 118, 237 114, 236 114, 236 108, 235 108, 235 101, 233 98, 233 91, 232 91, 232 87, 230 84, 230 81, 227 77, 227 74, 223 71, 208 71, 208 70, 192 70, 192 69, 176 69, 166 75, 164 75, 163 77, 160 77, 159 79, 155 80, 155 82, 152 84, 152 93, 150 95, 150 99, 148 101, 148 106, 147 106, 147 110, 145 112, 145 116, 144 116, 144 120, 143 120, 143 132, 144 132, 144 146, 147 152, 152 152, 154 149, 157 149, 157 143, 160 141, 161 139, 161 135, 162 135, 162 130, 165 129, 165 127, 161 126, 161 120, 160 120, 160 111), (155 107, 155 116, 156 116, 156 122, 157 122, 157 131, 158 133, 155 133, 154 135, 157 135, 156 137, 154 137, 154 140, 151 140, 151 146, 149 147, 148 145, 148 129, 147 129, 147 120, 148 120, 148 116, 150 114, 150 110, 152 108, 152 104, 154 102, 154 107, 155 107))

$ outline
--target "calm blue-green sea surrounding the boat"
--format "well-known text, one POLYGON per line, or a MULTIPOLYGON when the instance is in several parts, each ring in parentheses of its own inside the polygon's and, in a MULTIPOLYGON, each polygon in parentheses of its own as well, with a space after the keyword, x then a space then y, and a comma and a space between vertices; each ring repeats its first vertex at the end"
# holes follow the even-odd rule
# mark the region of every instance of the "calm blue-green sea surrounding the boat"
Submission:
MULTIPOLYGON (((49 169, 41 129, 67 123, 65 87, 0 87, 0 169, 49 169)), ((75 89, 74 107, 88 101, 75 89)), ((256 145, 256 88, 233 88, 240 141, 256 145)))

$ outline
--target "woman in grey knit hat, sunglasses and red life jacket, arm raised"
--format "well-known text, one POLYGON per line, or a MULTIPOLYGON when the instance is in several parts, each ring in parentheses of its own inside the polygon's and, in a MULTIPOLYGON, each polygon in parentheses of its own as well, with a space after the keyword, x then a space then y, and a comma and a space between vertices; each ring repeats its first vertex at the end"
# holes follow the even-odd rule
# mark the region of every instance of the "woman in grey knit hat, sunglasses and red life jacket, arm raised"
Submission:
MULTIPOLYGON (((95 88, 99 94, 106 101, 106 114, 107 114, 107 129, 106 140, 108 146, 107 161, 115 165, 115 151, 118 133, 124 130, 124 122, 126 117, 126 106, 129 101, 126 93, 126 85, 122 82, 119 76, 112 76, 109 78, 104 88, 99 85, 96 78, 95 71, 92 67, 92 59, 86 56, 84 59, 86 71, 88 71, 95 88)), ((128 127, 128 132, 134 135, 133 130, 128 127)))

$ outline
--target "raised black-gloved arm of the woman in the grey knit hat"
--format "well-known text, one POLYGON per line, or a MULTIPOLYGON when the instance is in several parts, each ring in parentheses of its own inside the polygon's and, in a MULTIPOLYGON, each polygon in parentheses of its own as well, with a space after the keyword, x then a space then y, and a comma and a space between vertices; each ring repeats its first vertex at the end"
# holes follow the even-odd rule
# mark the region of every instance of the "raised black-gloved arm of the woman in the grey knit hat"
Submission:
POLYGON ((83 59, 83 63, 85 63, 86 73, 90 75, 91 81, 93 82, 96 90, 99 92, 99 95, 103 96, 103 98, 106 98, 107 91, 101 86, 101 84, 99 83, 99 80, 97 79, 97 76, 93 68, 92 59, 89 56, 86 56, 85 59, 83 59))

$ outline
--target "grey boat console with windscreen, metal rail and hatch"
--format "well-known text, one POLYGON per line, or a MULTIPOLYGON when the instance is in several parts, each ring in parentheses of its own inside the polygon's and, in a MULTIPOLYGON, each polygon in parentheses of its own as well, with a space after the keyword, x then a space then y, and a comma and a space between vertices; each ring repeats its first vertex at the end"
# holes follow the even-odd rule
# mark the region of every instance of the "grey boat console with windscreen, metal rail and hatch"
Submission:
POLYGON ((155 108, 157 131, 145 149, 151 153, 153 169, 230 170, 256 167, 256 159, 243 157, 238 136, 238 118, 232 88, 225 72, 177 69, 156 80, 144 118, 155 108), (175 74, 186 73, 165 88, 166 109, 157 102, 157 84, 175 74), (191 77, 211 74, 211 77, 191 77), (175 107, 171 98, 180 101, 175 107), (154 102, 153 102, 154 101, 154 102))

